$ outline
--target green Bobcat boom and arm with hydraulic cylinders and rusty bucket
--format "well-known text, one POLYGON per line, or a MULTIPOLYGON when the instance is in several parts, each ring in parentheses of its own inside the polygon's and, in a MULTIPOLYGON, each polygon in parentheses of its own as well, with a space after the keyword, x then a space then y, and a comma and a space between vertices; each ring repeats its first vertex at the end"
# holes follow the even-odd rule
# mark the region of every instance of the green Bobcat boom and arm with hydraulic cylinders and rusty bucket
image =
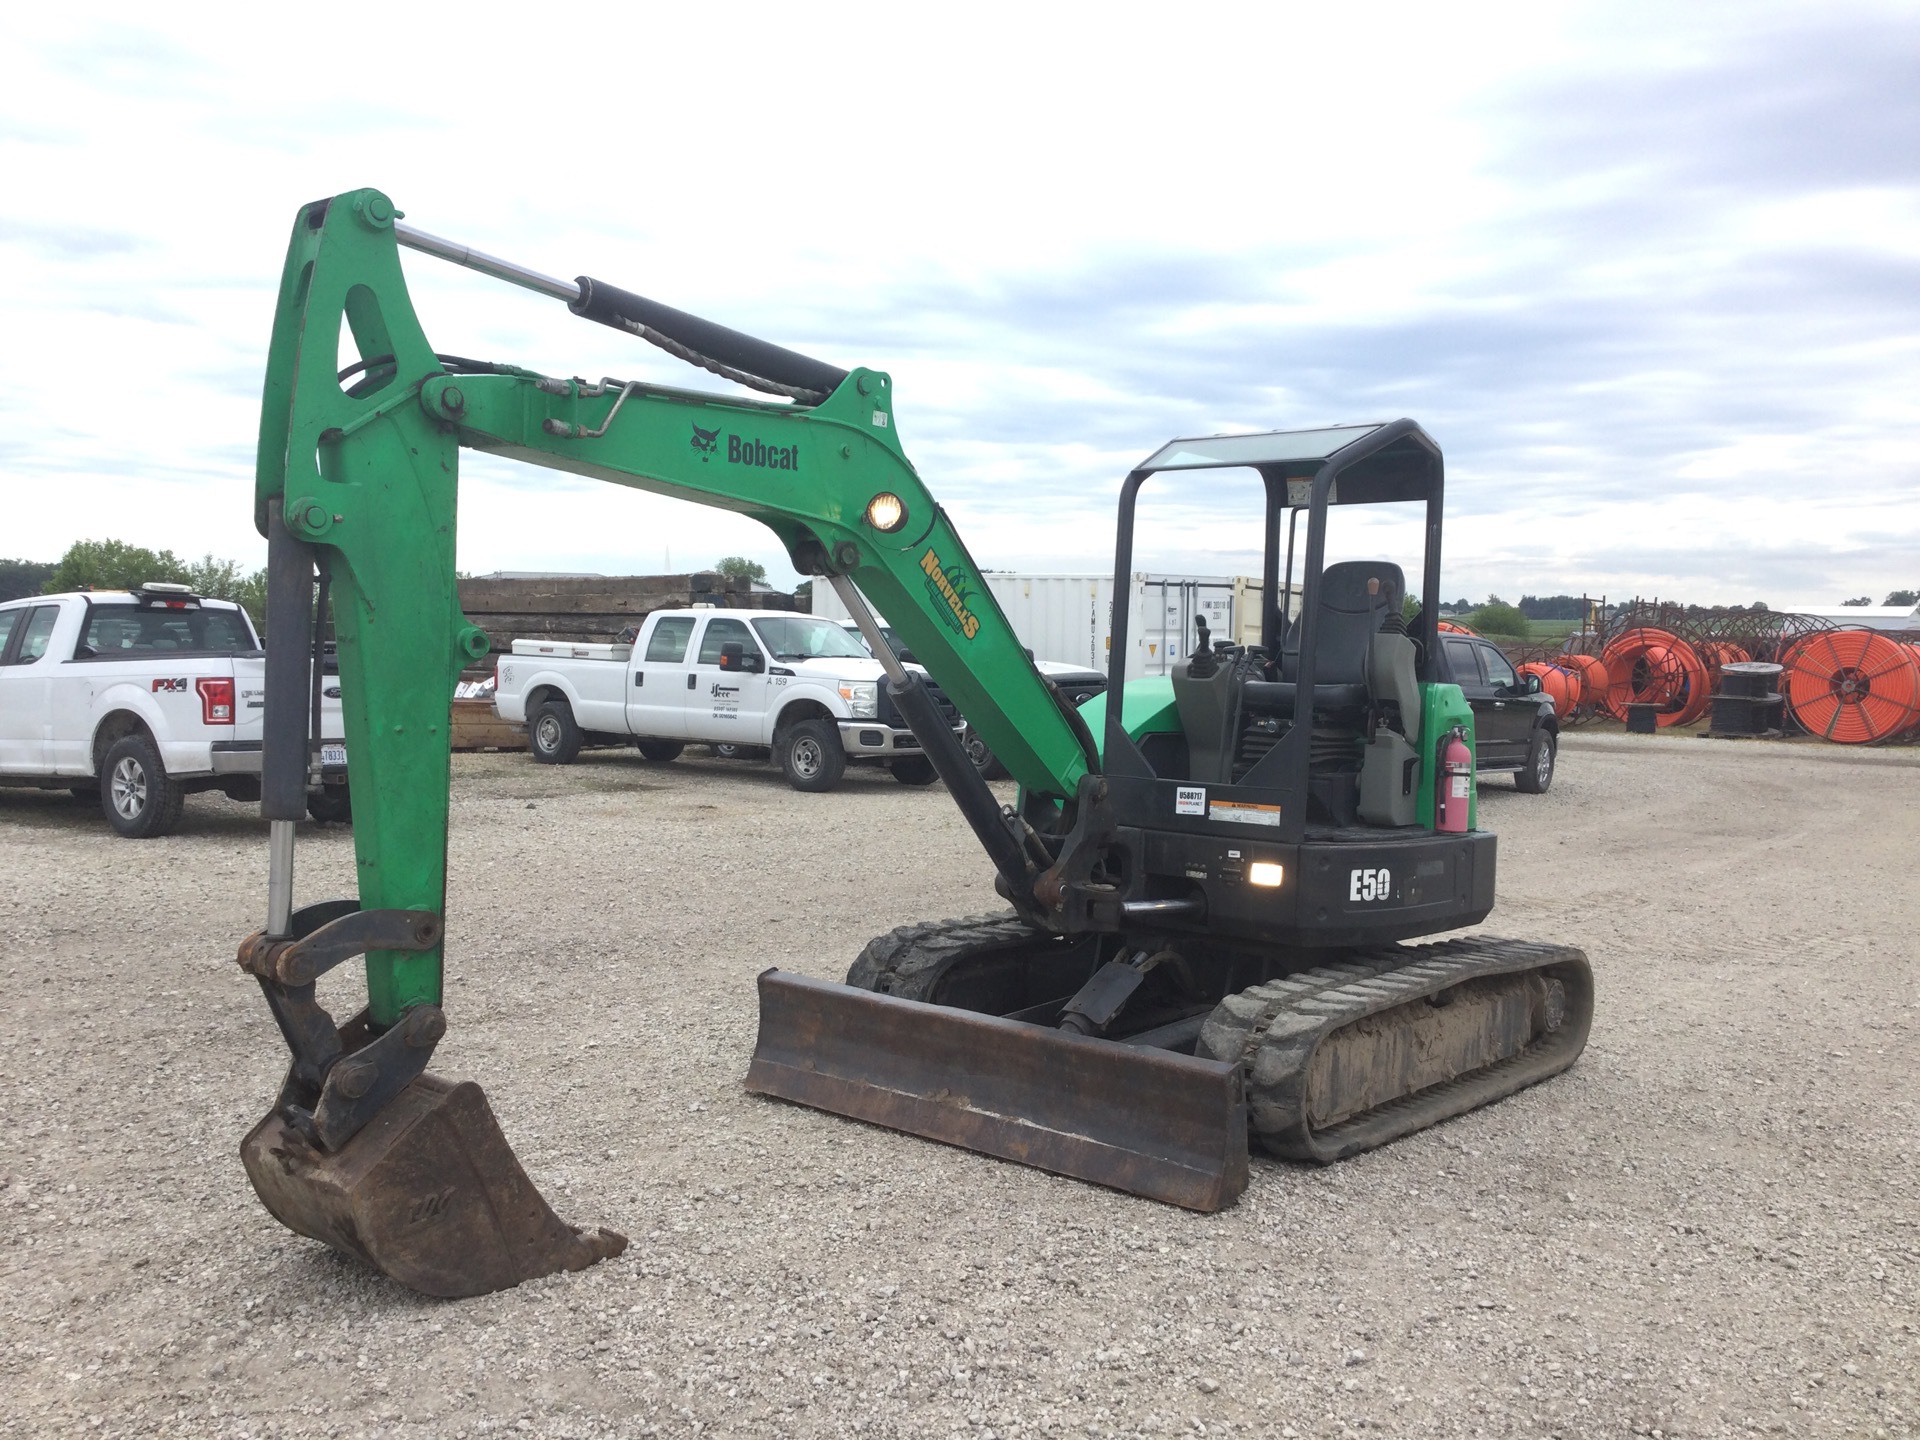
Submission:
MULTIPOLYGON (((294 1064, 244 1156, 255 1188, 290 1227, 447 1294, 578 1267, 624 1244, 559 1223, 538 1194, 543 1217, 524 1233, 503 1229, 499 1194, 532 1187, 478 1089, 447 1089, 424 1073, 445 1029, 447 705, 461 668, 488 653, 455 589, 461 447, 764 522, 795 566, 839 586, 856 614, 872 622, 849 584, 885 609, 916 660, 1021 781, 1029 812, 1071 818, 1098 756, 906 461, 885 374, 843 372, 586 276, 540 276, 401 221, 376 190, 311 204, 294 225, 280 280, 255 488, 271 576, 269 918, 242 945, 240 964, 259 979, 294 1064), (789 399, 549 378, 440 355, 409 298, 401 244, 563 298, 586 319, 789 399), (294 822, 317 743, 315 582, 330 599, 338 643, 359 895, 296 910, 294 822), (313 979, 355 954, 365 954, 367 1010, 336 1027, 313 998, 313 979), (399 1133, 394 1117, 409 1108, 419 1114, 399 1133), (474 1183, 440 1198, 396 1179, 463 1167, 474 1183), (394 1198, 401 1190, 407 1204, 394 1198), (432 1227, 411 1217, 420 1206, 432 1227), (422 1250, 426 1229, 438 1238, 422 1250), (472 1261, 482 1250, 490 1263, 472 1261)), ((920 678, 885 645, 876 653, 993 856, 1002 893, 1044 925, 1050 906, 1035 883, 1058 860, 1060 837, 1041 837, 1000 806, 920 678)))

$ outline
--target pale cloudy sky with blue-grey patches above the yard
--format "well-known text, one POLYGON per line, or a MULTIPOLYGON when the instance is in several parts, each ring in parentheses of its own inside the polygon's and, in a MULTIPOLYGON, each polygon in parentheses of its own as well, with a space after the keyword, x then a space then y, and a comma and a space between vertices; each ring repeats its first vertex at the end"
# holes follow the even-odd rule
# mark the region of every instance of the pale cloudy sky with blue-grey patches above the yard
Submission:
MULTIPOLYGON (((186 13, 0 21, 0 557, 259 563, 286 232, 372 184, 891 371, 987 566, 1108 566, 1169 436, 1411 415, 1450 597, 1920 586, 1920 4, 186 13)), ((407 267, 444 351, 722 384, 407 267)), ((1169 495, 1139 559, 1258 568, 1240 499, 1169 495)), ((747 520, 463 468, 472 572, 728 553, 793 578, 747 520)))

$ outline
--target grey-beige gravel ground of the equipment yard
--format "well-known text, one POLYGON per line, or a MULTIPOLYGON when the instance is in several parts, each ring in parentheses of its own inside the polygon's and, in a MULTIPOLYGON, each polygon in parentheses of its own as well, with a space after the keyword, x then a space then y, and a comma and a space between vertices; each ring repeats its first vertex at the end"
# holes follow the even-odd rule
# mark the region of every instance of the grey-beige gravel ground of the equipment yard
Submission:
MULTIPOLYGON (((1586 1056, 1221 1215, 741 1092, 758 970, 998 908, 939 789, 453 787, 434 1068, 632 1248, 430 1302, 282 1231, 236 1156, 265 826, 0 791, 0 1436, 1914 1434, 1920 755, 1576 735, 1490 781, 1490 929, 1588 950, 1586 1056)), ((351 876, 303 835, 301 902, 351 876)))

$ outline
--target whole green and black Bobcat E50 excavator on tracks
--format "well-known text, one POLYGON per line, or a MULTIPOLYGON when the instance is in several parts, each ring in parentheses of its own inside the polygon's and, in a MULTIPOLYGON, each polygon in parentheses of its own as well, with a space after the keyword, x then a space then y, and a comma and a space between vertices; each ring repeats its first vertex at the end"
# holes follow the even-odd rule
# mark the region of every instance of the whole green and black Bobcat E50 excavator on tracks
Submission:
POLYGON ((866 632, 887 703, 987 851, 1006 912, 895 929, 843 985, 760 975, 751 1091, 1208 1212, 1246 1187, 1250 1140, 1327 1164, 1555 1075, 1586 1044, 1580 950, 1409 945, 1488 916, 1496 852, 1475 828, 1473 712, 1434 660, 1442 459, 1415 422, 1175 440, 1137 465, 1116 593, 1144 486, 1258 478, 1260 643, 1200 630, 1171 674, 1129 678, 1116 609, 1110 687, 1075 708, 908 463, 889 376, 484 255, 357 190, 294 223, 253 516, 269 545, 271 864, 267 925, 240 966, 292 1064, 242 1160, 290 1229, 442 1296, 626 1244, 557 1217, 480 1087, 426 1069, 447 1025, 447 705, 488 653, 455 591, 461 447, 766 524, 866 632), (438 353, 401 248, 770 399, 438 353), (342 369, 348 336, 357 359, 342 369), (1423 507, 1417 612, 1398 564, 1325 561, 1329 515, 1367 505, 1423 507), (870 607, 918 668, 893 659, 870 607), (359 895, 296 908, 328 611, 359 895), (981 780, 927 676, 1018 781, 1014 804, 981 780), (367 1006, 336 1023, 315 985, 355 956, 367 1006))

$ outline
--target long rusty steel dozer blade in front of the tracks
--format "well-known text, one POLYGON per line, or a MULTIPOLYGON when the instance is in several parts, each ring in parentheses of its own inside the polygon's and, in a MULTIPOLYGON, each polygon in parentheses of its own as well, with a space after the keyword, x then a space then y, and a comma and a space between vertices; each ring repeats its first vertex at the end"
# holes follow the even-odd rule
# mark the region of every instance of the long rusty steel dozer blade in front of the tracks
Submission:
POLYGON ((1235 1064, 780 970, 747 1089, 1188 1210, 1246 1188, 1235 1064))

